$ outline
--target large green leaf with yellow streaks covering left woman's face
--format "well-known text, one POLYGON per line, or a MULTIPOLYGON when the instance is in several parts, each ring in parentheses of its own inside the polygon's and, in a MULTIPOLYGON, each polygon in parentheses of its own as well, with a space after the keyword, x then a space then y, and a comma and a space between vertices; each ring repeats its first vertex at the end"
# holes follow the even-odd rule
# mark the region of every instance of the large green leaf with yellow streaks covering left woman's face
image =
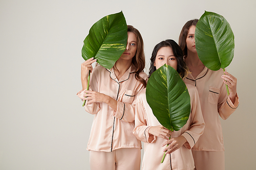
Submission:
POLYGON ((105 67, 112 68, 125 50, 127 25, 122 11, 107 15, 91 27, 83 41, 82 58, 94 57, 105 67))

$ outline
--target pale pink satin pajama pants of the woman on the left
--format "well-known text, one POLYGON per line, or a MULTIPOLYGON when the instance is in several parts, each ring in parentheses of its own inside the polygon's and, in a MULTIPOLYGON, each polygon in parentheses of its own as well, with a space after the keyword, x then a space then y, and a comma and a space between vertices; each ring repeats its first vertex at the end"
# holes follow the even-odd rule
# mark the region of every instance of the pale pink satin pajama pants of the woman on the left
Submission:
POLYGON ((139 170, 140 149, 121 148, 112 152, 90 151, 91 170, 139 170))

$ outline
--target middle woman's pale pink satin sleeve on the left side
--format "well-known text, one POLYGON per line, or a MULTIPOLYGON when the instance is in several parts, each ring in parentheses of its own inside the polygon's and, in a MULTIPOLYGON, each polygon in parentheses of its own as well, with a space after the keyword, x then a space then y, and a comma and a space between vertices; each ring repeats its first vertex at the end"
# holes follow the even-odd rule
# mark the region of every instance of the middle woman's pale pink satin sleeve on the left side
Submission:
POLYGON ((133 134, 137 137, 137 139, 152 143, 156 140, 156 136, 148 133, 148 130, 151 126, 147 126, 146 122, 146 112, 140 100, 137 100, 135 107, 135 128, 133 130, 133 134))

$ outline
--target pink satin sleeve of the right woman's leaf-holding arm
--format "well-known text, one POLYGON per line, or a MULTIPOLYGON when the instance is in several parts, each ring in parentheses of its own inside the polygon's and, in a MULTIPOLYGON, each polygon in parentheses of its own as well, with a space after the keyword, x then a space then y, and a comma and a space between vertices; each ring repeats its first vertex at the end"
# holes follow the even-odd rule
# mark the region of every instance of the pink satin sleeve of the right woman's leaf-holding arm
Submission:
POLYGON ((227 95, 226 85, 222 83, 220 89, 220 98, 218 101, 218 112, 223 120, 226 120, 234 111, 237 110, 239 106, 238 94, 236 94, 236 100, 234 104, 231 102, 229 96, 227 95))

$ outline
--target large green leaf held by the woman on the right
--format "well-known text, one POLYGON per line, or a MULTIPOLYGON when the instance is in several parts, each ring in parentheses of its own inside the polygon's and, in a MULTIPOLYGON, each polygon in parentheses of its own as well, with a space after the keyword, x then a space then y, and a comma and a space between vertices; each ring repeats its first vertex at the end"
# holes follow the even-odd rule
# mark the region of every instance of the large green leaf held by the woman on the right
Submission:
POLYGON ((199 59, 211 70, 226 68, 234 56, 234 34, 227 20, 214 12, 199 19, 195 32, 199 59))

